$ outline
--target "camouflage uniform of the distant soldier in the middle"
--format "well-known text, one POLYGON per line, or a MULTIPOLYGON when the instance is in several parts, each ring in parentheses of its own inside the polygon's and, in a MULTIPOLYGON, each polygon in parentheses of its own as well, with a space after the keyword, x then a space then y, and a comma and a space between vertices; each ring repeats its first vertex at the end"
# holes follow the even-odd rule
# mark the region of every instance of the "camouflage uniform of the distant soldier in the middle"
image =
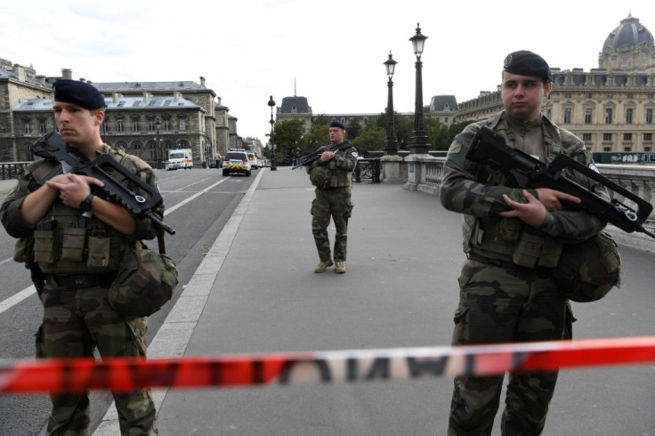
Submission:
POLYGON ((357 156, 357 149, 350 147, 337 151, 335 157, 327 162, 317 159, 307 166, 307 174, 316 185, 316 198, 311 202, 311 233, 321 261, 332 258, 327 236, 330 216, 336 227, 334 260, 346 260, 348 218, 354 206, 351 200, 352 170, 357 166, 357 156))

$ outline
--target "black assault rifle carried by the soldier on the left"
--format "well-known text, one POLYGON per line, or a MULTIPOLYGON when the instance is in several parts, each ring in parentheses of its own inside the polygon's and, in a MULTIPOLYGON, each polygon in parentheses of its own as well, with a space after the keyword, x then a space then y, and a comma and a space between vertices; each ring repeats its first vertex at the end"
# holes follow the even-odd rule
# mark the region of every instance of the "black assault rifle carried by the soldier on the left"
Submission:
POLYGON ((44 157, 44 159, 59 162, 60 164, 52 172, 46 174, 39 180, 39 184, 44 184, 44 182, 59 174, 73 173, 94 177, 104 182, 105 186, 98 189, 105 192, 109 201, 124 206, 138 217, 150 219, 159 228, 166 230, 169 235, 175 234, 174 229, 159 220, 152 212, 163 201, 159 190, 152 188, 138 176, 127 171, 125 166, 120 165, 113 157, 101 154, 92 161, 77 151, 77 149, 70 147, 57 132, 44 134, 29 149, 36 156, 44 157), (149 198, 143 197, 127 188, 123 183, 118 182, 109 174, 109 171, 116 171, 118 174, 124 176, 125 179, 133 182, 140 190, 146 192, 149 198))

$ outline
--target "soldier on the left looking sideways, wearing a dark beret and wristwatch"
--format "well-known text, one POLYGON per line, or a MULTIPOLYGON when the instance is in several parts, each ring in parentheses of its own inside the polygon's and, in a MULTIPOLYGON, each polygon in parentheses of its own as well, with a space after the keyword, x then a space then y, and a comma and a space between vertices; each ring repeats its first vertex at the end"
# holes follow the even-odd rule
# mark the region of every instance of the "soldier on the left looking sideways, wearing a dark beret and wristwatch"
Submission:
MULTIPOLYGON (((105 101, 93 85, 65 79, 53 88, 55 123, 70 147, 91 160, 108 154, 157 188, 148 164, 102 142, 105 101)), ((155 238, 157 232, 149 219, 136 219, 125 207, 94 196, 92 186, 102 186, 98 179, 60 174, 38 183, 58 165, 50 160, 28 165, 0 207, 7 233, 20 238, 14 260, 26 262, 32 271, 44 306, 36 357, 93 358, 97 347, 102 358, 145 358, 146 319, 119 315, 109 305, 108 292, 118 262, 133 242, 155 238)), ((157 211, 158 218, 163 208, 157 211)), ((51 401, 48 434, 88 434, 88 393, 51 395, 51 401)), ((115 393, 114 401, 122 434, 158 433, 149 390, 115 393)))

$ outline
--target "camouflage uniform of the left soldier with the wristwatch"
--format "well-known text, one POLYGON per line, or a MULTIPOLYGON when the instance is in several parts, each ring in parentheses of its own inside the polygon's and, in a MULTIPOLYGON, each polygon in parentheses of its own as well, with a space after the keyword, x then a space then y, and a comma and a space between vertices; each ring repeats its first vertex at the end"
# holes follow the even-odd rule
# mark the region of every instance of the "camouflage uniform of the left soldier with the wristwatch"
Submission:
MULTIPOLYGON (((102 152, 116 158, 133 174, 157 188, 156 175, 138 157, 125 155, 107 145, 103 146, 102 152)), ((82 211, 64 206, 58 197, 41 221, 56 219, 56 230, 50 239, 41 238, 44 232, 38 230, 38 224, 35 229, 25 222, 20 207, 29 192, 39 188, 36 181, 54 166, 52 162, 44 160, 30 164, 20 174, 17 186, 0 207, 0 220, 7 232, 14 238, 20 238, 14 259, 26 262, 30 267, 44 306, 43 324, 36 333, 36 357, 93 357, 93 350, 97 347, 102 357, 145 359, 146 319, 125 319, 118 315, 109 305, 108 288, 116 277, 117 264, 125 255, 125 250, 137 239, 154 238, 156 230, 150 220, 137 220, 133 235, 125 236, 95 217, 81 218, 82 211), (71 230, 70 222, 82 222, 82 229, 76 227, 71 230), (96 232, 95 238, 92 230, 96 232), (98 232, 102 233, 102 238, 98 232), (77 239, 71 238, 71 234, 77 239), (51 240, 52 244, 44 244, 44 240, 51 240), (96 243, 106 247, 104 252, 98 253, 99 257, 92 255, 96 243), (44 246, 52 250, 44 251, 44 246), (71 246, 77 249, 71 249, 71 246), (74 276, 84 276, 86 282, 80 284, 73 279, 74 276)), ((112 170, 108 172, 118 181, 125 182, 120 174, 112 170)), ((138 191, 129 182, 125 182, 125 185, 138 191)), ((101 196, 101 193, 98 195, 101 196)), ((163 206, 157 213, 159 217, 163 215, 163 206)), ((88 433, 88 393, 52 395, 51 400, 53 409, 48 421, 48 434, 88 433)), ((115 393, 114 400, 122 434, 157 434, 156 410, 150 390, 115 393)))

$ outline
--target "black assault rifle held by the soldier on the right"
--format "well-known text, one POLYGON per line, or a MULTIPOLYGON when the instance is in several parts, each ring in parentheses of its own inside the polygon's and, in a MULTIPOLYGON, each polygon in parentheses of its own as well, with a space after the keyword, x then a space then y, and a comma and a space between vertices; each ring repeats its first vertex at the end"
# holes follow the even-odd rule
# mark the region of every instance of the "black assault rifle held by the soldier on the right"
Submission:
POLYGON ((484 125, 473 136, 466 158, 505 170, 513 176, 521 188, 550 188, 578 197, 581 200, 579 207, 611 222, 619 229, 627 233, 640 231, 655 238, 655 233, 643 228, 643 222, 652 212, 649 202, 571 157, 559 154, 549 166, 546 166, 528 153, 508 147, 503 135, 484 125), (593 191, 587 190, 578 182, 568 178, 563 171, 565 168, 601 183, 607 189, 630 200, 634 206, 621 203, 615 196, 612 196, 611 201, 607 201, 593 191))

